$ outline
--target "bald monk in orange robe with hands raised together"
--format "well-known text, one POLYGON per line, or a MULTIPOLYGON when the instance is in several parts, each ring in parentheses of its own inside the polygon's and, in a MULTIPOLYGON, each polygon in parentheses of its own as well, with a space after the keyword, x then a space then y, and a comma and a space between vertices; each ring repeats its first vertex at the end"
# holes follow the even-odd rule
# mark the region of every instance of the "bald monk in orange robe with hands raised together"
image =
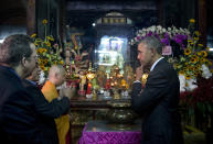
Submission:
MULTIPOLYGON (((62 65, 53 65, 49 71, 49 80, 44 84, 42 92, 46 100, 51 102, 53 99, 58 98, 56 90, 57 86, 61 86, 65 81, 65 69, 62 65)), ((72 89, 63 89, 62 93, 66 97, 72 97, 72 89)), ((68 114, 62 115, 55 119, 57 129, 57 135, 60 144, 66 144, 66 135, 70 130, 70 117, 68 114)))

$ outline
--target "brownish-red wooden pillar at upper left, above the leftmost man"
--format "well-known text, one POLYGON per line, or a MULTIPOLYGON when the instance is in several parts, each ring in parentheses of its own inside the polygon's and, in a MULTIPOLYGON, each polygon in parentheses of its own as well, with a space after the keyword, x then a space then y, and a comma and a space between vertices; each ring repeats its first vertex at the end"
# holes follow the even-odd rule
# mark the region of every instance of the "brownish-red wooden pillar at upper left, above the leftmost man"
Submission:
POLYGON ((28 0, 26 7, 26 34, 35 33, 35 0, 28 0))

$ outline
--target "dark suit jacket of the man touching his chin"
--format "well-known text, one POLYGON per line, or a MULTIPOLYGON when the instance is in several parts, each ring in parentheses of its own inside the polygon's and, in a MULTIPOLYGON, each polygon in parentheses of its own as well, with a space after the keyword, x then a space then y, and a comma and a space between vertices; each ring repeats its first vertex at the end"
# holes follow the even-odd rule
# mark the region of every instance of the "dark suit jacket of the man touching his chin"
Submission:
POLYGON ((178 75, 166 59, 150 71, 143 90, 140 82, 134 84, 132 109, 143 114, 142 144, 182 143, 179 90, 178 75))

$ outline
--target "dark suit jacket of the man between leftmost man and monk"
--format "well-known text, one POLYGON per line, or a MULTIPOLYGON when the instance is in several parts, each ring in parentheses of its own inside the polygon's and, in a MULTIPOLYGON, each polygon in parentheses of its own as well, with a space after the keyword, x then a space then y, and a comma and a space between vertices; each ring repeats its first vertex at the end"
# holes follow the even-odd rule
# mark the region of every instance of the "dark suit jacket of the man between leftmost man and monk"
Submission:
POLYGON ((70 100, 67 97, 54 99, 49 103, 35 84, 23 80, 23 86, 34 101, 35 111, 39 118, 39 126, 42 130, 45 144, 58 144, 57 131, 54 119, 67 113, 70 100))

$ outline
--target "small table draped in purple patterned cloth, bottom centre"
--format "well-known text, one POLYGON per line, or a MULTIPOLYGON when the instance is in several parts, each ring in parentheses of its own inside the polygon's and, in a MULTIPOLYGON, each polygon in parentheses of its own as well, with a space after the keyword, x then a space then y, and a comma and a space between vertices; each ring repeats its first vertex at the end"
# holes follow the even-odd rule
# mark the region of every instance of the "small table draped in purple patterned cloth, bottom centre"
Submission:
POLYGON ((78 144, 140 144, 141 124, 113 124, 107 121, 88 121, 78 144))

